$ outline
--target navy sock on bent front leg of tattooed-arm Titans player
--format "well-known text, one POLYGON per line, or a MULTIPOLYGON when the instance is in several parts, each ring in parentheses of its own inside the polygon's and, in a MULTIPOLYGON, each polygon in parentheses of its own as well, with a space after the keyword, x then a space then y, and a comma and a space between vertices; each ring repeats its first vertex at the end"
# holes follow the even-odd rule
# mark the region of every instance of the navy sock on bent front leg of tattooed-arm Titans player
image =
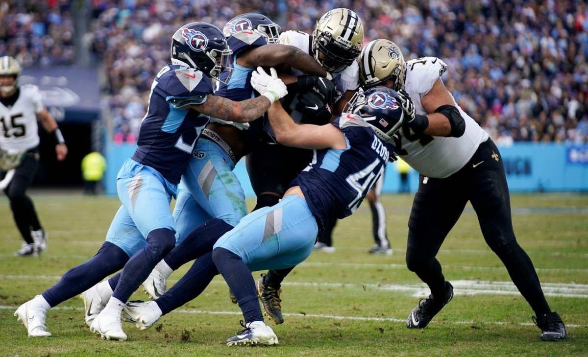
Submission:
POLYGON ((122 302, 128 301, 155 265, 173 249, 175 241, 173 231, 167 228, 149 232, 147 246, 136 252, 126 263, 112 296, 122 302))

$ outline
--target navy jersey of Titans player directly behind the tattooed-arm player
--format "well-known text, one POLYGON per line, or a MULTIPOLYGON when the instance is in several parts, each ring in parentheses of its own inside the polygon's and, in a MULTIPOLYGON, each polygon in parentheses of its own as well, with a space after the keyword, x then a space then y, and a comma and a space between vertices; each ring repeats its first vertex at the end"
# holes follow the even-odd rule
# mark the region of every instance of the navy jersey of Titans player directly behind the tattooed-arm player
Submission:
MULTIPOLYGON (((225 97, 235 102, 250 99, 255 97, 251 86, 251 73, 255 68, 246 68, 237 64, 237 58, 243 50, 266 45, 267 42, 262 35, 253 31, 239 31, 233 33, 228 39, 230 49, 233 51, 233 73, 229 78, 229 82, 225 85, 220 83, 215 95, 225 97)), ((227 72, 220 74, 220 79, 226 82, 227 72)), ((253 144, 257 141, 259 134, 262 132, 263 120, 257 119, 249 122, 249 129, 245 130, 245 152, 249 153, 253 148, 253 144)))

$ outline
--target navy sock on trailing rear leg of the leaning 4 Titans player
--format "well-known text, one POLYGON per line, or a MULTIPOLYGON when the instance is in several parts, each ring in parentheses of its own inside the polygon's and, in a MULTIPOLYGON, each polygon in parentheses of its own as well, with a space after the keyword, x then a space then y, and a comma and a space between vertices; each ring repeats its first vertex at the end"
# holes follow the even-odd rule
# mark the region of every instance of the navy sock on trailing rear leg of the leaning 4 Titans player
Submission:
POLYGON ((155 302, 165 315, 202 294, 216 274, 219 272, 212 262, 212 251, 209 251, 196 259, 188 272, 155 302))

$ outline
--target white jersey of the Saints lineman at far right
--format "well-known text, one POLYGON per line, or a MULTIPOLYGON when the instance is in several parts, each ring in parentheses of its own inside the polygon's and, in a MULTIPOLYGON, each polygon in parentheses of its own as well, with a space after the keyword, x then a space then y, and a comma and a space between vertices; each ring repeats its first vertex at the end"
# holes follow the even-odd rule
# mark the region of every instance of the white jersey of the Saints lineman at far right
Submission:
MULTIPOLYGON (((425 115, 420 100, 429 93, 447 65, 436 57, 423 57, 406 62, 405 90, 415 103, 416 114, 425 115)), ((452 96, 453 99, 453 96, 452 96)), ((410 166, 427 177, 444 179, 459 171, 489 135, 475 120, 466 114, 453 99, 466 123, 466 132, 460 137, 415 134, 407 125, 399 130, 400 145, 397 151, 410 166)))

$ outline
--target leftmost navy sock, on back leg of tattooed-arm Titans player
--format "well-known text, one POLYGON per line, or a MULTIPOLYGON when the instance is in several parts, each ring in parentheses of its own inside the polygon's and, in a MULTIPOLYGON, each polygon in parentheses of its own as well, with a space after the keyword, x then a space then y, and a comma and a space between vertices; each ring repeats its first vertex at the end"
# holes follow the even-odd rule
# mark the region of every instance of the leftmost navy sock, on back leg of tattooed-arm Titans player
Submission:
POLYGON ((88 290, 113 272, 121 270, 128 260, 129 256, 125 251, 110 242, 104 242, 96 255, 68 270, 57 284, 41 295, 51 307, 54 307, 88 290))

